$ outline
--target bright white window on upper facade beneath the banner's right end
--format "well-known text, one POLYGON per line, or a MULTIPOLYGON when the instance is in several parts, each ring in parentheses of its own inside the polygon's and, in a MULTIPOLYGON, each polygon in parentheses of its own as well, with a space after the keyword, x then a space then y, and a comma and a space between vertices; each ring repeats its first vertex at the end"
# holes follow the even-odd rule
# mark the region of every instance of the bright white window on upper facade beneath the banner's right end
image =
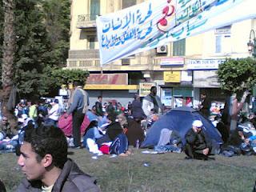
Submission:
POLYGON ((215 53, 231 53, 231 26, 223 26, 215 30, 215 53))

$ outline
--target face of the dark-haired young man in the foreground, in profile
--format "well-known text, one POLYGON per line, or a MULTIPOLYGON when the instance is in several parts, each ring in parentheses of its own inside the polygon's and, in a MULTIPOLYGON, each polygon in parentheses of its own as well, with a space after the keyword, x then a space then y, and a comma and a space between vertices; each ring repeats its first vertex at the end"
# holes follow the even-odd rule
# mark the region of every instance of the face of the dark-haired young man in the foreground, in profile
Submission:
POLYGON ((38 162, 37 154, 32 150, 29 142, 24 142, 21 146, 21 155, 18 158, 18 165, 22 167, 23 174, 27 180, 41 180, 46 172, 41 162, 38 162))

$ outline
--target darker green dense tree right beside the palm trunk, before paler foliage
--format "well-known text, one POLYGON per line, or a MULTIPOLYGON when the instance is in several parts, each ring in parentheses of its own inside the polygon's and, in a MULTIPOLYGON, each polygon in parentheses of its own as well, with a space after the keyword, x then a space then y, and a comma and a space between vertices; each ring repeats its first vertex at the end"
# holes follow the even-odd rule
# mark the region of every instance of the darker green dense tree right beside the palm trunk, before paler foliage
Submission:
POLYGON ((41 82, 44 68, 50 65, 51 46, 39 1, 19 0, 15 14, 18 38, 14 81, 22 97, 46 94, 48 87, 41 82))

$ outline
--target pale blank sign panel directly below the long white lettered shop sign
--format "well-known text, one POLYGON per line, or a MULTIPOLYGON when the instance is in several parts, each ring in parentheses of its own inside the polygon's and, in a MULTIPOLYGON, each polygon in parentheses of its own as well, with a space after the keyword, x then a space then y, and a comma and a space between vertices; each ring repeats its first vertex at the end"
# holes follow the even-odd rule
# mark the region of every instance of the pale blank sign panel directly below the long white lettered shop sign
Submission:
POLYGON ((217 70, 194 70, 194 87, 219 87, 217 70))

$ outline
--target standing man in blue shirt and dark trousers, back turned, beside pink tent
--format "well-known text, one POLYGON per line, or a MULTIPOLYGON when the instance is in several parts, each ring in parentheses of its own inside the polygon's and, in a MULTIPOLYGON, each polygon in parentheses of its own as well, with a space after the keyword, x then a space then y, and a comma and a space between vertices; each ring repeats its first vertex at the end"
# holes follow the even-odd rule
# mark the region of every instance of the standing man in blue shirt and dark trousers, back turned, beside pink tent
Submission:
POLYGON ((65 114, 65 118, 72 114, 73 117, 73 138, 74 148, 80 148, 81 146, 81 125, 83 118, 85 117, 86 111, 89 106, 89 97, 85 90, 82 89, 81 82, 74 82, 74 92, 71 95, 71 106, 65 114))

